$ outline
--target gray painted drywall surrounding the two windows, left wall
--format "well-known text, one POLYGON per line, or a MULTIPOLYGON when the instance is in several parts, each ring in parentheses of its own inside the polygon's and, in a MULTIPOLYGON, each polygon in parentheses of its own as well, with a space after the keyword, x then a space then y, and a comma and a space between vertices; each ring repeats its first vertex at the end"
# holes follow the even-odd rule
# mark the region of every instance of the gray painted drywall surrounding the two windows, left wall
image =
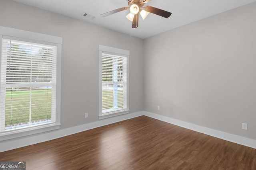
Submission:
POLYGON ((10 0, 0 25, 63 38, 60 129, 99 120, 99 45, 130 51, 130 113, 143 111, 142 39, 10 0))

